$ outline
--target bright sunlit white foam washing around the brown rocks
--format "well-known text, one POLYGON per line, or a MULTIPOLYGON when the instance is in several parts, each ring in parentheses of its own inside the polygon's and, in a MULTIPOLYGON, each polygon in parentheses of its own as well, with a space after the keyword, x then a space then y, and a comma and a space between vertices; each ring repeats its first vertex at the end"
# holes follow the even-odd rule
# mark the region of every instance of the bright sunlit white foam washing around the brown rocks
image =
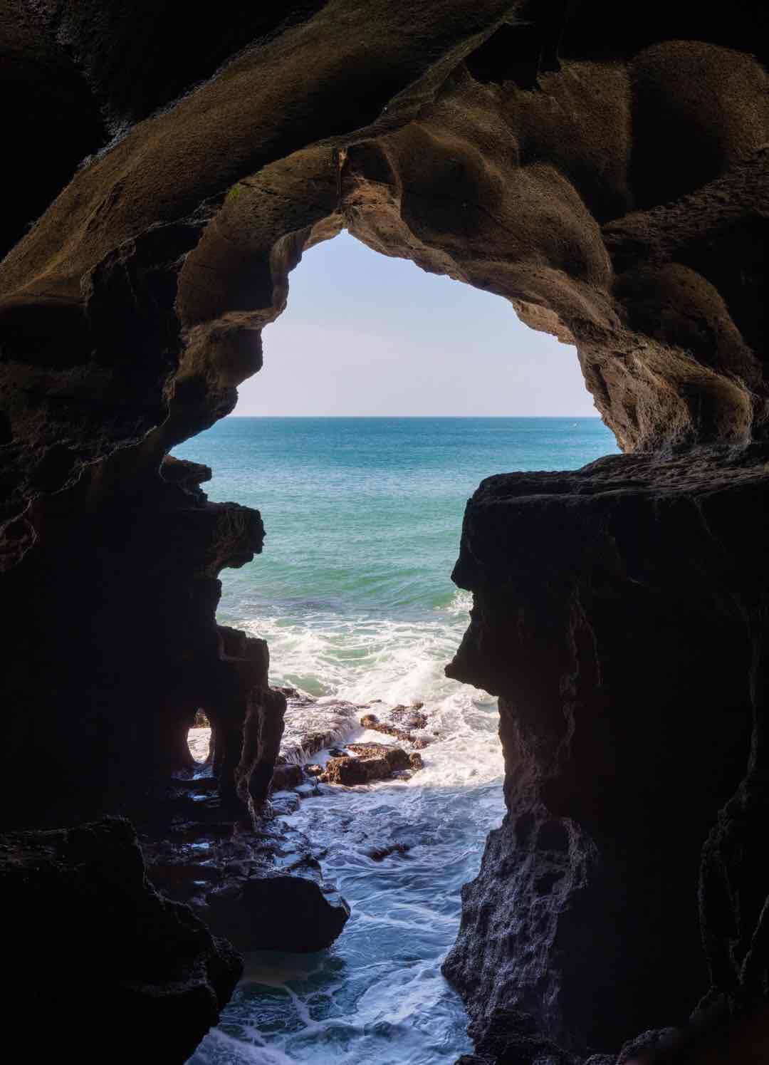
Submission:
MULTIPOLYGON (((471 605, 470 593, 459 591, 429 620, 318 612, 306 616, 301 625, 279 617, 247 622, 247 630, 269 644, 272 683, 320 697, 310 706, 290 710, 283 756, 302 760, 300 737, 311 732, 328 732, 329 742, 349 738, 359 715, 340 700, 354 706, 379 700, 384 714, 388 707, 420 702, 428 717, 426 735, 433 742, 423 752, 425 769, 414 777, 414 786, 464 787, 497 777, 502 754, 495 700, 444 674, 471 605)), ((377 711, 377 706, 372 709, 377 711)))

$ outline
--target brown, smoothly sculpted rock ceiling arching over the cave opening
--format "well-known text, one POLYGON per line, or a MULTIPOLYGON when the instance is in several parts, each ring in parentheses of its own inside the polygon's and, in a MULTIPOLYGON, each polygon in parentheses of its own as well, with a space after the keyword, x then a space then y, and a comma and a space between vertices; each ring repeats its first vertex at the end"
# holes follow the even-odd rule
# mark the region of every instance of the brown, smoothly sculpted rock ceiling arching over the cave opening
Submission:
MULTIPOLYGON (((289 5, 131 126, 0 271, 12 557, 30 498, 227 413, 302 248, 343 226, 574 341, 626 448, 764 435, 766 12, 678 6, 619 26, 600 0, 289 5)), ((111 5, 58 17, 121 124, 234 45, 207 31, 170 71, 153 53, 138 85, 111 5)))

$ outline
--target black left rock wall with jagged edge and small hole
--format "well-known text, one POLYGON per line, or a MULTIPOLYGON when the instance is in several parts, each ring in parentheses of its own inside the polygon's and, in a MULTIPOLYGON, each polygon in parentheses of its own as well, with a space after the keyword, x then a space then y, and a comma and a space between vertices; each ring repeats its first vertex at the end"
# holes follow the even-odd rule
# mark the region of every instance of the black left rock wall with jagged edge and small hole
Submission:
POLYGON ((4 674, 16 798, 0 821, 143 807, 153 782, 192 765, 199 708, 223 796, 247 807, 249 783, 266 796, 285 701, 264 641, 215 622, 219 570, 251 559, 264 530, 257 511, 209 503, 210 476, 168 459, 159 477, 121 452, 35 504, 40 535, 4 581, 18 610, 4 674))

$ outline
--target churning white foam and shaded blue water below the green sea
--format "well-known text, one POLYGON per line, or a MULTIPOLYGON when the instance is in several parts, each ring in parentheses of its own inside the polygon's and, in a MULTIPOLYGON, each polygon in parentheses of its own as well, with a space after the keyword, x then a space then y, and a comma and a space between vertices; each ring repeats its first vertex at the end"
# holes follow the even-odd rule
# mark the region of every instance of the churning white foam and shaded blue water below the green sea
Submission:
MULTIPOLYGON (((331 950, 310 957, 247 958, 246 982, 192 1065, 452 1065, 469 1049, 467 1017, 440 974, 456 935, 459 890, 502 813, 502 752, 494 701, 443 672, 468 623, 470 596, 420 621, 306 616, 261 618, 273 684, 317 698, 289 717, 290 737, 346 727, 339 700, 424 704, 431 742, 411 780, 324 788, 293 823, 322 851, 325 874, 353 915, 331 950), (320 698, 318 698, 320 697, 320 698), (437 735, 436 735, 437 734, 437 735), (379 861, 391 843, 405 846, 379 861)), ((359 727, 345 737, 383 737, 359 727)), ((313 755, 315 760, 317 755, 313 755)))

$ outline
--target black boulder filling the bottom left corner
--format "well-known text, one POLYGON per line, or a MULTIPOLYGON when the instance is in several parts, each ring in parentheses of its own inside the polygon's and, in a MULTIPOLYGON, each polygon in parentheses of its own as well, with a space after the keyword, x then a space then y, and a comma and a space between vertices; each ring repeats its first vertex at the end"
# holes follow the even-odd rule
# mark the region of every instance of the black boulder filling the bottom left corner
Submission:
POLYGON ((5 1010, 40 1058, 56 1058, 64 1041, 87 1063, 108 1045, 120 1065, 148 1048, 183 1062, 241 976, 230 945, 150 885, 120 818, 1 836, 0 885, 5 1010))

